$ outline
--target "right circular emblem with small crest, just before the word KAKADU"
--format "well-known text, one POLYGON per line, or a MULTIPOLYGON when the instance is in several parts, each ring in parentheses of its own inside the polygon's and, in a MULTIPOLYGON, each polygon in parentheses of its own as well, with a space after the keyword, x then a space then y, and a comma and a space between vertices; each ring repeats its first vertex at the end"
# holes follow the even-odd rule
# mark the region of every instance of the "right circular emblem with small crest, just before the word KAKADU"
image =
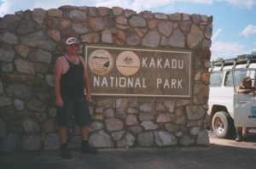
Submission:
POLYGON ((137 54, 131 51, 125 51, 117 57, 116 67, 121 74, 131 76, 136 74, 137 70, 140 68, 140 59, 137 54))

